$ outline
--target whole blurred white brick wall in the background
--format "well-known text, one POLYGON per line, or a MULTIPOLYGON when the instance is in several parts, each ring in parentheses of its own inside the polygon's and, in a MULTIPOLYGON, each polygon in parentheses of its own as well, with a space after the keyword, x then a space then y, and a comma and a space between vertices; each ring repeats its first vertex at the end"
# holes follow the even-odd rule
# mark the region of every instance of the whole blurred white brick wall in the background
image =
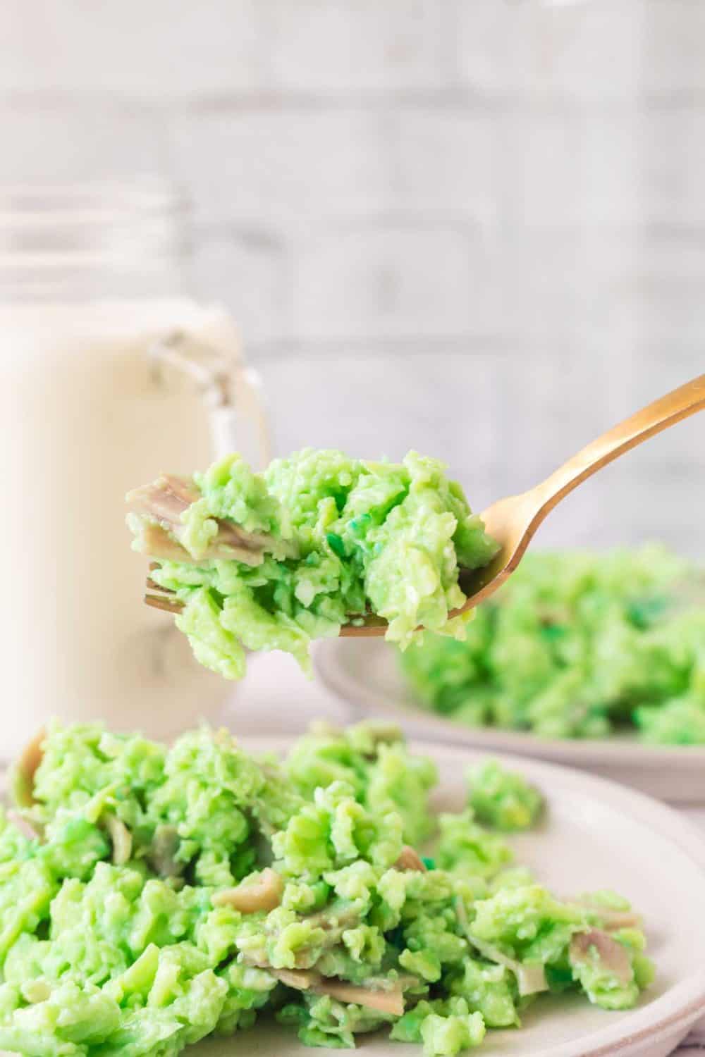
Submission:
MULTIPOLYGON (((282 450, 482 505, 705 369, 705 0, 2 0, 0 127, 0 179, 187 188, 282 450)), ((543 538, 702 553, 704 430, 543 538)))

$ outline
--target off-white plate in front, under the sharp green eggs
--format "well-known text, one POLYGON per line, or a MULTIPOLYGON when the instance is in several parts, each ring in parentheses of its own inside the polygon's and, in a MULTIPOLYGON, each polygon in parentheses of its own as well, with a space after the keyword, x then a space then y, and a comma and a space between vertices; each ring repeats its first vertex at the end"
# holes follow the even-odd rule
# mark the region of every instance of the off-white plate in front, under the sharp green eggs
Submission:
MULTIPOLYGON (((245 739, 256 750, 286 742, 245 739)), ((437 804, 458 810, 463 772, 481 754, 414 743, 438 763, 437 804)), ((549 813, 533 833, 512 838, 519 863, 557 892, 614 888, 643 912, 657 969, 635 1009, 608 1013, 578 997, 540 997, 520 1031, 488 1032, 478 1057, 665 1057, 705 1015, 705 841, 671 809, 639 793, 581 772, 535 760, 504 758, 549 796, 549 813)), ((361 1036, 365 1057, 423 1057, 421 1046, 361 1036)), ((315 1057, 272 1023, 230 1039, 202 1042, 188 1057, 315 1057)))

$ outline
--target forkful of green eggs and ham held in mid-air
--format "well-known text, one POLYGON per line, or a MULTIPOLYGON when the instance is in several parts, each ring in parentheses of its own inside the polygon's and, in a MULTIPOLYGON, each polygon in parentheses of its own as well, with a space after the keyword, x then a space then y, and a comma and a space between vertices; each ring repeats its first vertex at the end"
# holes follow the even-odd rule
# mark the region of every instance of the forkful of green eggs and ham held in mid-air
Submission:
POLYGON ((253 474, 233 455, 131 493, 128 524, 202 664, 240 679, 244 648, 279 649, 308 670, 312 638, 368 613, 402 647, 419 625, 462 637, 459 564, 497 546, 444 469, 414 451, 395 464, 307 448, 253 474))

